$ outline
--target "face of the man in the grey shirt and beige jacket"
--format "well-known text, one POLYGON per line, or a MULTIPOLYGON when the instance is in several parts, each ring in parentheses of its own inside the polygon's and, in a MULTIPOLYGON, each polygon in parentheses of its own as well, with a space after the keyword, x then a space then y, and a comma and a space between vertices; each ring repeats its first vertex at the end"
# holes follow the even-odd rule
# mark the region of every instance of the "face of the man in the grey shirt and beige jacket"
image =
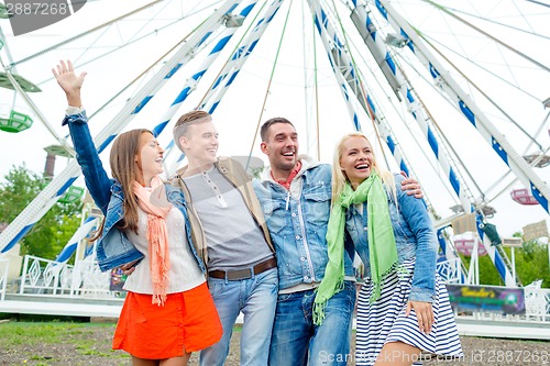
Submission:
POLYGON ((213 122, 193 123, 188 131, 179 138, 189 167, 208 169, 217 160, 218 130, 213 122))

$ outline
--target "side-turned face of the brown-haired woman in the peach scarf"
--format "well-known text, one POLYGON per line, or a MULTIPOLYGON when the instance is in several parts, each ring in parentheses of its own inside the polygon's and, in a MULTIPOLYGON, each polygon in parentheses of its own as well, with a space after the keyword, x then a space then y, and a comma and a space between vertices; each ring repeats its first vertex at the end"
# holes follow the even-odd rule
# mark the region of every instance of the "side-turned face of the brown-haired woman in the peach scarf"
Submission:
POLYGON ((163 173, 163 154, 156 138, 148 132, 143 132, 140 136, 140 149, 135 155, 138 171, 143 175, 145 186, 150 186, 151 179, 163 173))

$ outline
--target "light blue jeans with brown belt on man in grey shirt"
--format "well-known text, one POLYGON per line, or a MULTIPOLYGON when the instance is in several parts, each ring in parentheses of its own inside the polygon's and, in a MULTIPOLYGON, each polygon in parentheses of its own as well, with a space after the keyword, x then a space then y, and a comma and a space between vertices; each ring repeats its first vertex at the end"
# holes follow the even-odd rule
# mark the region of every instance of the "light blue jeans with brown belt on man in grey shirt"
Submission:
POLYGON ((208 286, 223 326, 223 335, 218 343, 200 352, 200 365, 223 365, 228 357, 233 325, 240 312, 244 314, 241 330, 241 365, 267 365, 277 303, 277 268, 235 281, 208 278, 208 286))

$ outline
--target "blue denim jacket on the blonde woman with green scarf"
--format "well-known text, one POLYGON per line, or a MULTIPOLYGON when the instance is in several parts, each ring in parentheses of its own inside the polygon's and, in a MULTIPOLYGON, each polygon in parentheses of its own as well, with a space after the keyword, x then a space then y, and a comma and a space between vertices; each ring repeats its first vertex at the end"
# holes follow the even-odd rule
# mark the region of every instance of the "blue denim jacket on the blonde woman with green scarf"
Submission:
MULTIPOLYGON (((399 263, 416 257, 409 300, 431 302, 436 293, 438 242, 422 200, 402 190, 404 179, 402 175, 395 175, 398 208, 393 196, 389 192, 387 195, 399 263)), ((371 267, 366 220, 366 202, 363 203, 363 213, 354 206, 346 212, 346 232, 355 244, 355 251, 363 260, 365 275, 369 277, 371 267)))

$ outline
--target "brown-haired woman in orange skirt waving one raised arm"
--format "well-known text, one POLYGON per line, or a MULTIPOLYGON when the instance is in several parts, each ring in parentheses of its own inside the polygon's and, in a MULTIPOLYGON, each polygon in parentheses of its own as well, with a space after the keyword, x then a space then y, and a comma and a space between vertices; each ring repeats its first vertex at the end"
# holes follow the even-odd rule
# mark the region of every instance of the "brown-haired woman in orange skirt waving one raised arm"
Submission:
POLYGON ((105 215, 97 257, 101 270, 134 267, 112 347, 133 365, 187 365, 190 353, 221 337, 221 324, 190 235, 182 191, 161 179, 164 149, 148 130, 113 142, 109 179, 99 159, 70 62, 52 69, 68 101, 65 120, 86 186, 105 215))

